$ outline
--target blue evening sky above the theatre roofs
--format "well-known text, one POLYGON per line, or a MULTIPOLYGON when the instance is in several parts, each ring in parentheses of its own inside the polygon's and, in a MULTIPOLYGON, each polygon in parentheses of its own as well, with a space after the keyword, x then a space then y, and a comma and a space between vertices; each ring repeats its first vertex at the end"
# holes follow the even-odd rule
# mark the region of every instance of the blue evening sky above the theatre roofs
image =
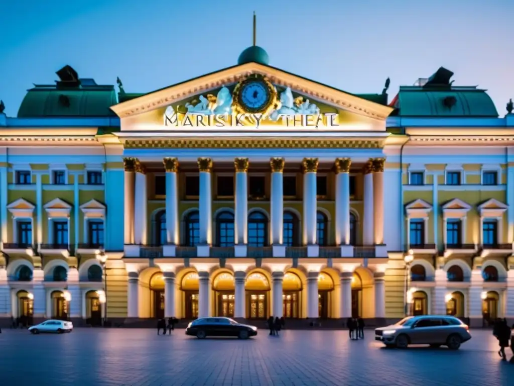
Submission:
POLYGON ((32 83, 69 64, 99 84, 149 92, 236 64, 252 42, 270 65, 352 93, 430 76, 514 97, 512 0, 7 0, 0 7, 0 99, 15 116, 32 83))

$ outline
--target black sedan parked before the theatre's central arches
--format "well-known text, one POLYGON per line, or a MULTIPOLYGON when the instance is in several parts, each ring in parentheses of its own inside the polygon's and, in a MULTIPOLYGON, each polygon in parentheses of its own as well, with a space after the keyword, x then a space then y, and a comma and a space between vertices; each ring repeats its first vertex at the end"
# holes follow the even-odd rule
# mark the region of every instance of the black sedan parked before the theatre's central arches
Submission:
POLYGON ((237 323, 230 318, 200 318, 189 323, 186 335, 192 335, 199 339, 205 337, 237 337, 248 339, 257 335, 257 327, 237 323))

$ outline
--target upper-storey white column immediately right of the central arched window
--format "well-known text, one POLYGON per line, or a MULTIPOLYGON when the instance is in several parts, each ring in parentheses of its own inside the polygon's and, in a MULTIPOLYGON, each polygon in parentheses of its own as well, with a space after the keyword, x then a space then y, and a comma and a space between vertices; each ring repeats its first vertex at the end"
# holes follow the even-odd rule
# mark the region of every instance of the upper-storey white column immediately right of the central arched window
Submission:
POLYGON ((284 232, 284 159, 272 158, 271 166, 271 244, 283 243, 284 232))

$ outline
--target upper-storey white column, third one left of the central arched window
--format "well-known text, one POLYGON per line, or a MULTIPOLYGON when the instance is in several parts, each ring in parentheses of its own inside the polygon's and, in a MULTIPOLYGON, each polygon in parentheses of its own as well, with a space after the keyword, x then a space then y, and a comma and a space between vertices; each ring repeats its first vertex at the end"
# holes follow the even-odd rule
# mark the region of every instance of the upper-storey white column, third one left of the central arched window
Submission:
POLYGON ((167 157, 163 164, 166 170, 166 242, 178 245, 178 160, 167 157))

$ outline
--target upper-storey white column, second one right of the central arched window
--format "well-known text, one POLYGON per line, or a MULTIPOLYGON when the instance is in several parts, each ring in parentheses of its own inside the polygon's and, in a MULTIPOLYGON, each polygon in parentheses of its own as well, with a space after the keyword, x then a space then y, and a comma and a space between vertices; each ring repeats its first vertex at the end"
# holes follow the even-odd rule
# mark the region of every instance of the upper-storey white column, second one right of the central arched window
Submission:
POLYGON ((303 243, 315 245, 316 240, 316 172, 319 161, 317 158, 304 158, 303 165, 303 243))

